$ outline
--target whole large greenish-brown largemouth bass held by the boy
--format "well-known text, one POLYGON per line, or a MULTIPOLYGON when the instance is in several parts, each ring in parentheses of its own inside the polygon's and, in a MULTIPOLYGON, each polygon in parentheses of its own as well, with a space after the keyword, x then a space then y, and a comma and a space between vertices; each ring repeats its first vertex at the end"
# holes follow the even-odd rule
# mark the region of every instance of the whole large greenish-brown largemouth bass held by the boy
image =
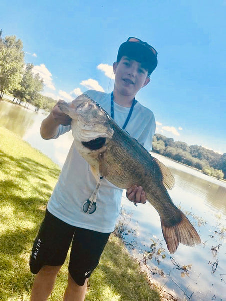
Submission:
POLYGON ((97 181, 105 177, 119 188, 142 186, 157 210, 170 253, 179 243, 199 244, 200 237, 188 218, 172 202, 167 189, 174 186, 171 171, 121 129, 99 104, 86 94, 71 104, 60 103, 72 119, 72 135, 80 155, 90 164, 97 181))

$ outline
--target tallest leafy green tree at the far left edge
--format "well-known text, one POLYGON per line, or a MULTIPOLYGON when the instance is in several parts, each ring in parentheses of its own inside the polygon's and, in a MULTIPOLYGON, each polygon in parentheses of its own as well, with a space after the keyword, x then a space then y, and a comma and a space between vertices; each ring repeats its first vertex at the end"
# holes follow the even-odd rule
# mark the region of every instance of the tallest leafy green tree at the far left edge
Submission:
POLYGON ((0 39, 0 99, 4 92, 19 87, 24 66, 23 43, 16 36, 0 39))

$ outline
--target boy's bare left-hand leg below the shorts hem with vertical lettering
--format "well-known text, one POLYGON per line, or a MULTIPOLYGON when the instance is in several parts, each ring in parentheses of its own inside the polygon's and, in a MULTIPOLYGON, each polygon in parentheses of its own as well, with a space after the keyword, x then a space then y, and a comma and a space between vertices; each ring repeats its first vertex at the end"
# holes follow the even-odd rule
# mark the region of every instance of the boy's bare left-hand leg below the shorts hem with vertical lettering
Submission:
POLYGON ((35 280, 31 291, 31 301, 46 301, 49 297, 57 273, 59 272, 61 265, 49 266, 45 265, 41 268, 38 274, 35 276, 35 280))

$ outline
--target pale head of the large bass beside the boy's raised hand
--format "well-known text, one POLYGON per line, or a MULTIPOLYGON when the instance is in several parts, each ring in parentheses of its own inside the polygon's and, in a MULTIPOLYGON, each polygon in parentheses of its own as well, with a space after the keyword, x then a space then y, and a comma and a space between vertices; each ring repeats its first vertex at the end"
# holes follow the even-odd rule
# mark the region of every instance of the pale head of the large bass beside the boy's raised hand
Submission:
POLYGON ((61 110, 72 119, 72 135, 76 140, 88 142, 113 136, 108 114, 88 95, 78 96, 61 110))

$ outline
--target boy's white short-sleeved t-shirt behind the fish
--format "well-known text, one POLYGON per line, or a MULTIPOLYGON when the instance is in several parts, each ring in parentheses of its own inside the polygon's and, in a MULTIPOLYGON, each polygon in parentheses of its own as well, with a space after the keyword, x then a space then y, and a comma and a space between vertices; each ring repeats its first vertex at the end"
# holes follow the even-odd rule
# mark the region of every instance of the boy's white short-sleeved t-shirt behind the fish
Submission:
MULTIPOLYGON (((85 94, 110 114, 111 94, 95 90, 89 90, 85 94)), ((114 119, 119 126, 124 125, 129 110, 130 108, 114 103, 114 119)), ((70 129, 70 125, 60 125, 57 135, 53 138, 58 138, 70 129)), ((149 151, 152 148, 152 138, 155 133, 153 113, 137 102, 125 130, 149 151)), ((76 227, 103 233, 112 232, 120 212, 122 189, 103 179, 97 194, 96 211, 92 214, 84 213, 83 204, 90 198, 96 184, 89 164, 79 155, 72 143, 48 202, 48 211, 76 227)))

